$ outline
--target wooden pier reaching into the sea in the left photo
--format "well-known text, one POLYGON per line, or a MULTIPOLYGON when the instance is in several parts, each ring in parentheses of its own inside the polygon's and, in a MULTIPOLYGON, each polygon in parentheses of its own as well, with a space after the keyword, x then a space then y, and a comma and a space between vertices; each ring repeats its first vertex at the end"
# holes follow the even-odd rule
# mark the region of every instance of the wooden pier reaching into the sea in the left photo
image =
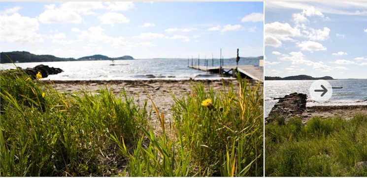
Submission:
POLYGON ((198 69, 201 71, 227 75, 229 76, 232 71, 232 76, 235 77, 236 72, 241 73, 241 75, 246 76, 247 78, 252 78, 255 80, 259 80, 263 82, 264 78, 264 70, 259 69, 255 66, 251 65, 240 65, 240 66, 218 66, 218 67, 207 67, 207 66, 189 66, 193 69, 198 69))

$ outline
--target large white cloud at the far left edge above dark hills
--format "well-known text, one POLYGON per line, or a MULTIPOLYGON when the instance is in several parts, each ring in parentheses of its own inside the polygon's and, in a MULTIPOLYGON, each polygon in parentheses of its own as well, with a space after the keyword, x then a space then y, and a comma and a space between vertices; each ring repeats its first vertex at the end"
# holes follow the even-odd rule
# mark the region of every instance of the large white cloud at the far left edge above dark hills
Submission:
POLYGON ((43 42, 42 35, 38 34, 38 21, 35 18, 21 16, 18 13, 1 15, 0 41, 10 43, 37 43, 43 42))

